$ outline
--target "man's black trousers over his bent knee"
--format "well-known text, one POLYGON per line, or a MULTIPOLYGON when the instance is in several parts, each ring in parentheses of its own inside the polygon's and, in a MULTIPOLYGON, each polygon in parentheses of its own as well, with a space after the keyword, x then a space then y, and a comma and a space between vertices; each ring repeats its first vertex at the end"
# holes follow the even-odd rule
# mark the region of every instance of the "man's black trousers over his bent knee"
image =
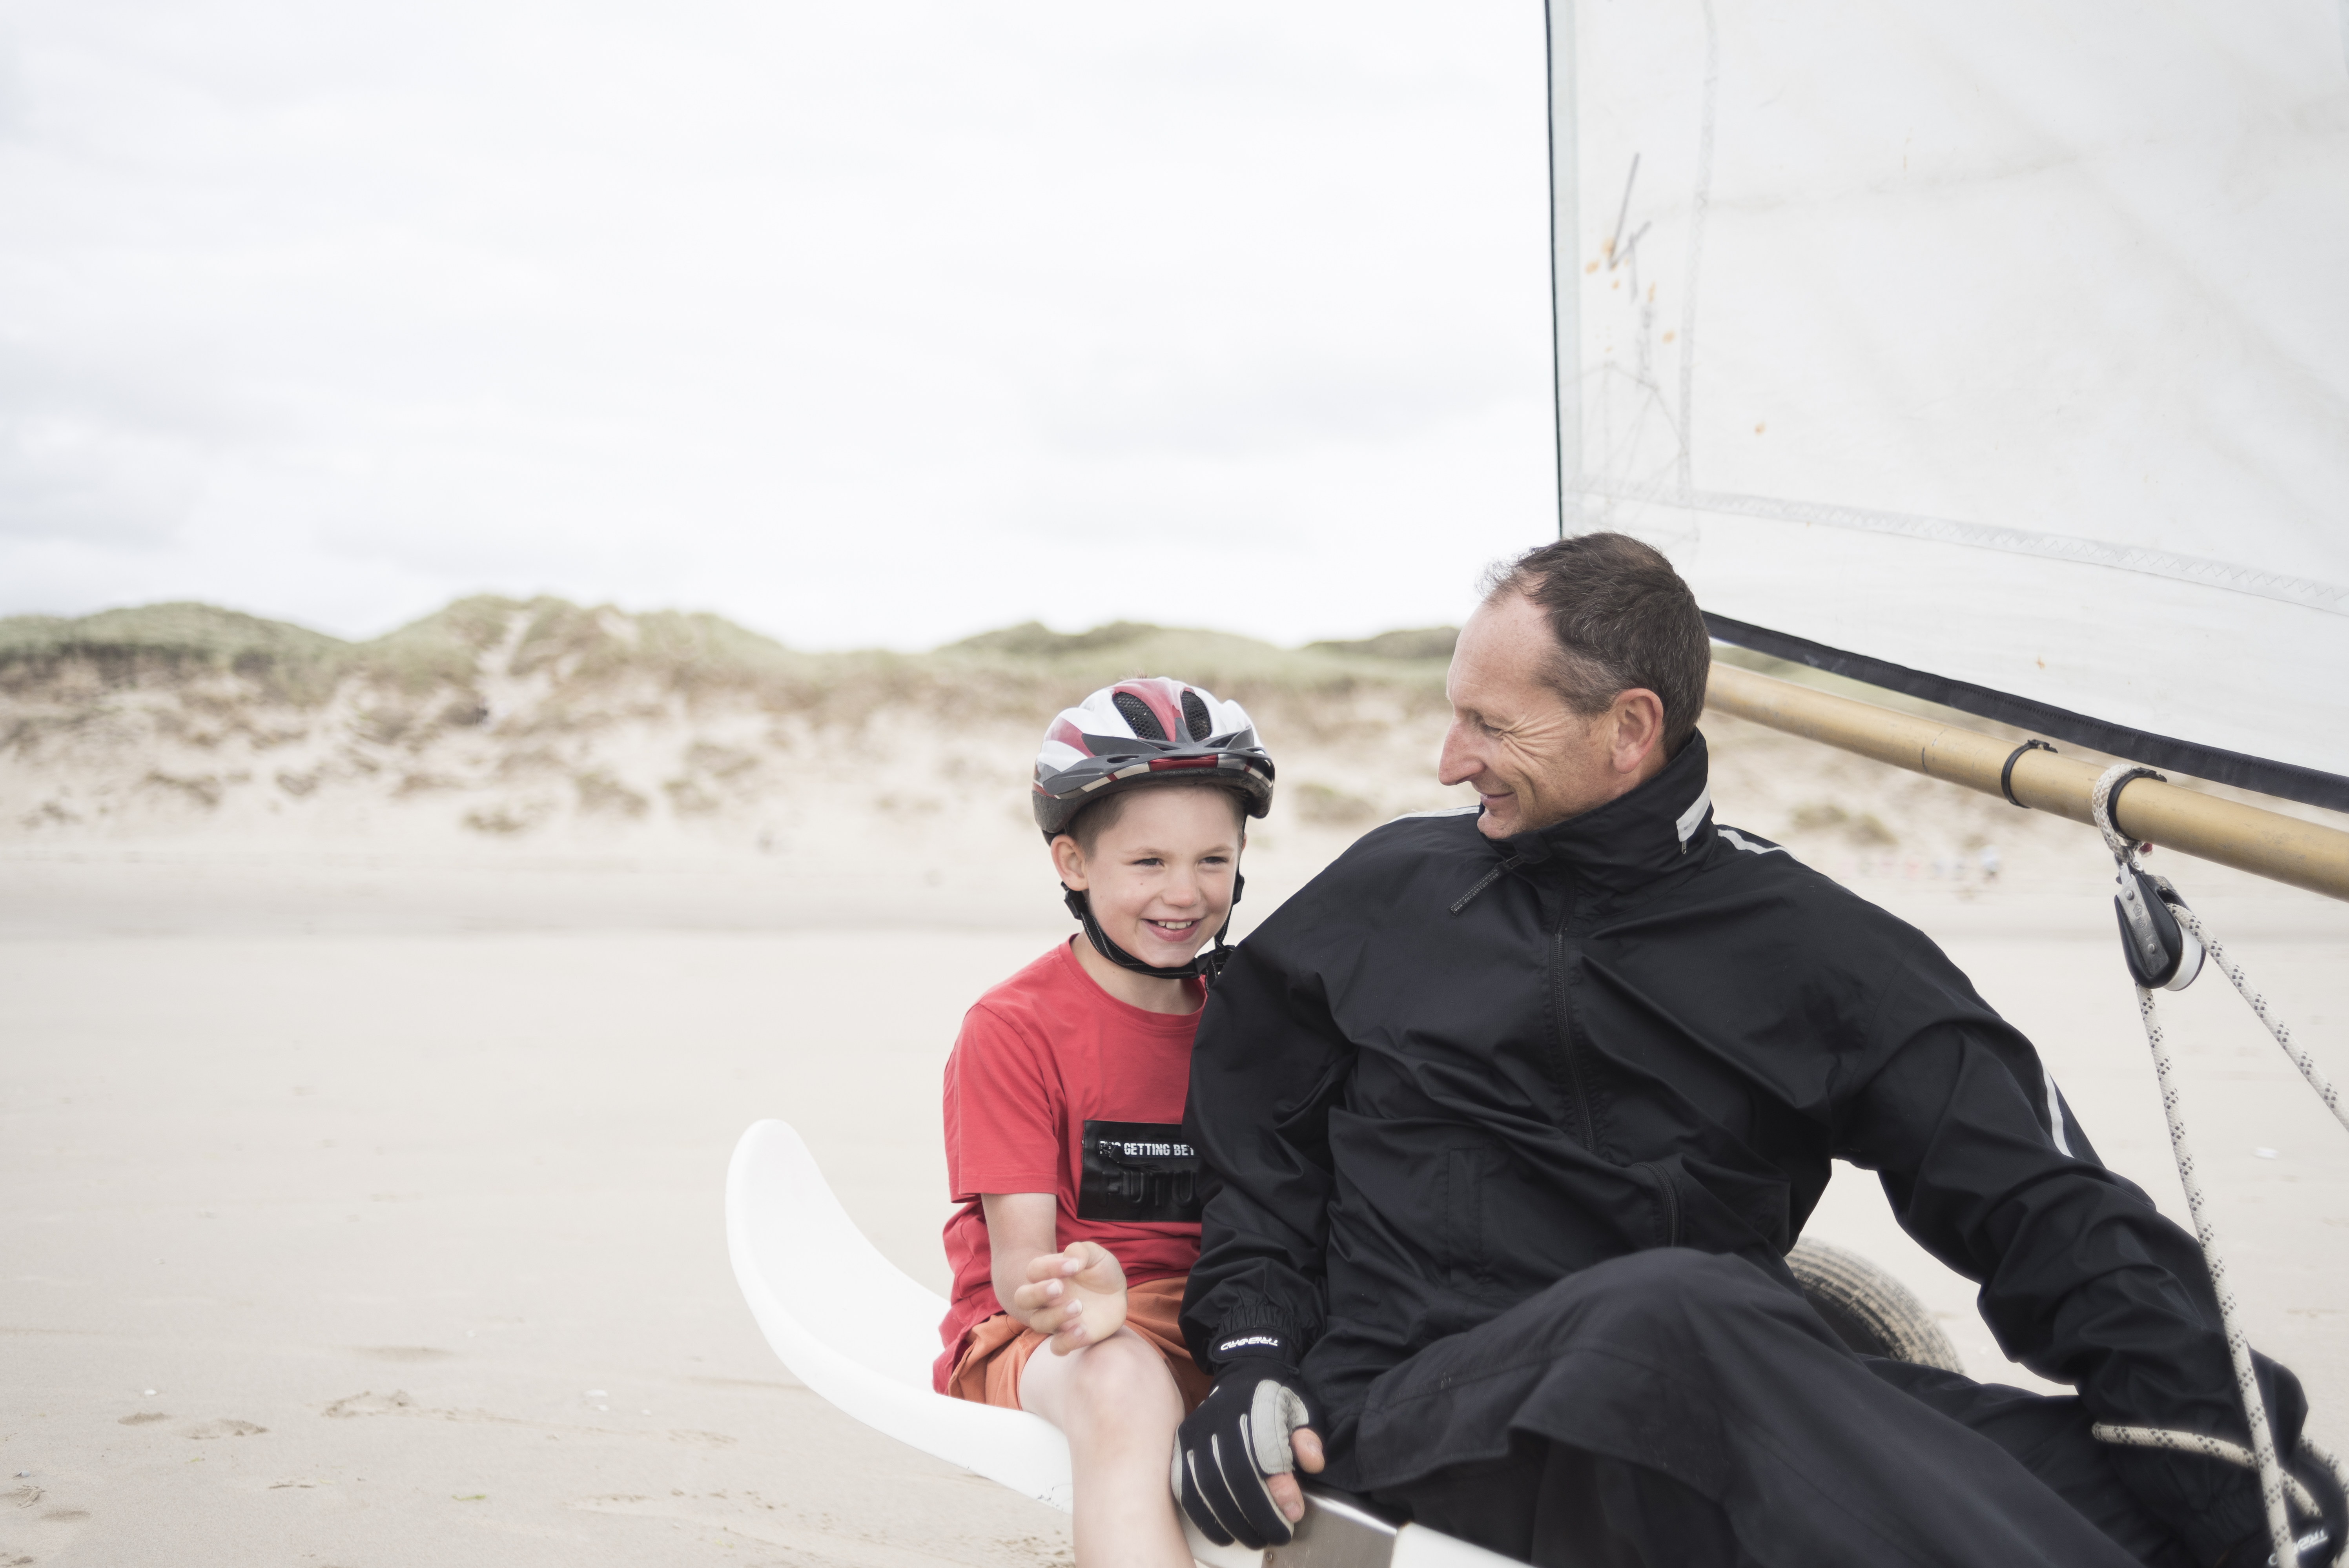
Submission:
POLYGON ((2077 1399, 1856 1357, 1738 1258, 1616 1258, 1381 1376, 1355 1483, 1539 1568, 2187 1568, 2077 1399))

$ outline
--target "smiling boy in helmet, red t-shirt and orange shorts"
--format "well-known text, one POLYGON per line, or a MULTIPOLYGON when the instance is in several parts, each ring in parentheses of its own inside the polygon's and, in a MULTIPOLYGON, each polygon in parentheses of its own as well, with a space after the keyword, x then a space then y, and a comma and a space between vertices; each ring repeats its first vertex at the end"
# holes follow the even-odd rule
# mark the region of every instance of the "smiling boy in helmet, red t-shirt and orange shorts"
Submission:
POLYGON ((1078 1568, 1184 1568, 1167 1467, 1207 1376, 1174 1324, 1205 1199, 1182 1113, 1273 763, 1240 704, 1120 681, 1045 730, 1031 800, 1083 939, 982 995, 947 1059, 935 1378, 1069 1434, 1078 1568))

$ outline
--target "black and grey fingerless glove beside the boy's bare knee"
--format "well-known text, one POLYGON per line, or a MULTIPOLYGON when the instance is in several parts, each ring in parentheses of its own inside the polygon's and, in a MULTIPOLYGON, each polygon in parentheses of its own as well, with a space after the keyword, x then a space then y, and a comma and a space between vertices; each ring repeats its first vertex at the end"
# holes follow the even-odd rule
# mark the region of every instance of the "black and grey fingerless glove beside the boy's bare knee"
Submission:
POLYGON ((1294 1530, 1266 1481, 1297 1467, 1290 1434, 1311 1425, 1304 1378, 1280 1354, 1217 1368, 1205 1404, 1174 1432, 1174 1500, 1198 1533, 1219 1547, 1290 1545, 1294 1530))

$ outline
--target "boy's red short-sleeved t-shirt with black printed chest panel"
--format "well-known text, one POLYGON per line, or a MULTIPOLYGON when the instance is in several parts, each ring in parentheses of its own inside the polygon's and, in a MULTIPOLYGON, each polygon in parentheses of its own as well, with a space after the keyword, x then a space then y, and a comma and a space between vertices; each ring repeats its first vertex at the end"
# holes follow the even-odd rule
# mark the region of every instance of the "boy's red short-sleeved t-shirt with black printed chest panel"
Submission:
MULTIPOLYGON (((1205 1000, 1205 995, 1200 998, 1205 1000)), ((1182 1141, 1198 1014, 1102 991, 1066 941, 982 995, 947 1056, 947 1221, 954 1305, 933 1380, 1003 1305, 982 1192, 1052 1192, 1059 1246, 1099 1242, 1128 1284, 1198 1263, 1198 1160, 1182 1141)))

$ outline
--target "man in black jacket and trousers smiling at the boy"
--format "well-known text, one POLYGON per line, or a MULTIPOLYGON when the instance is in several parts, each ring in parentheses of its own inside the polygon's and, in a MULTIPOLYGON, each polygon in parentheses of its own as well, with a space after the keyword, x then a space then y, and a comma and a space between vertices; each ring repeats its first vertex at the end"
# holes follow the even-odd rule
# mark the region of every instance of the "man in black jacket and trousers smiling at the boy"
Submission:
POLYGON ((1365 836, 1233 955, 1191 1066, 1186 1512, 1287 1540, 1294 1453, 1541 1566, 2267 1561, 2248 1472, 2088 1432, 2246 1439, 2192 1237, 1921 932, 1712 822, 1708 667, 1654 549, 1517 559, 1449 674, 1480 805, 1365 836), (1844 1350, 1785 1270, 1837 1157, 2079 1394, 1844 1350))

